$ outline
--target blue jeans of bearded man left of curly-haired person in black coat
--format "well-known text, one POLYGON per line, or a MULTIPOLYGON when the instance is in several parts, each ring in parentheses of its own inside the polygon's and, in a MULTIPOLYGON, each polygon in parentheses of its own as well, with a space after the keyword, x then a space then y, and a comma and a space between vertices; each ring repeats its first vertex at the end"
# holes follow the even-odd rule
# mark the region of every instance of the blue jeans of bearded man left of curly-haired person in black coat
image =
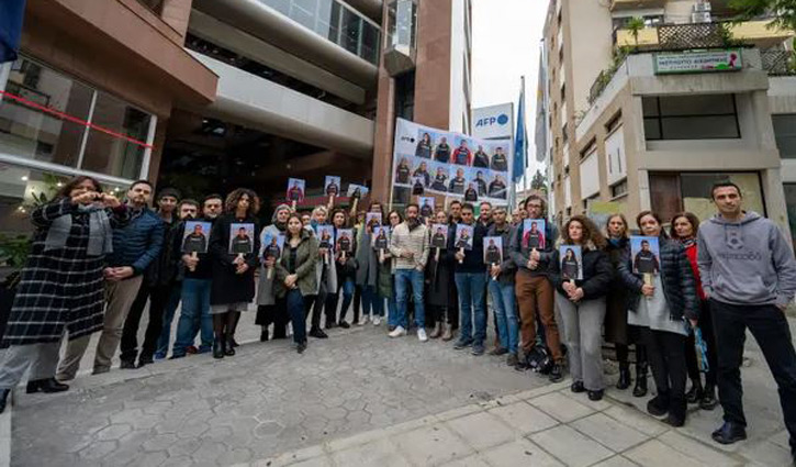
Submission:
POLYGON ((197 322, 201 323, 202 346, 213 344, 213 316, 210 315, 210 279, 184 279, 182 281, 182 311, 177 322, 177 337, 173 355, 186 355, 186 348, 193 345, 197 322))

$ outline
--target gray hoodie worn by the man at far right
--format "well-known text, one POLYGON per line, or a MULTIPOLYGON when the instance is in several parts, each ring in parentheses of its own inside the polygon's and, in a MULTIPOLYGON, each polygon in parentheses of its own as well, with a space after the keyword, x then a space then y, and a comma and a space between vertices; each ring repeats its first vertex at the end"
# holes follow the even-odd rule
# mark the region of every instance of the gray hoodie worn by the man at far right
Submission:
POLYGON ((702 287, 731 304, 787 305, 796 293, 796 260, 769 219, 745 212, 740 222, 720 215, 704 221, 697 236, 702 287))

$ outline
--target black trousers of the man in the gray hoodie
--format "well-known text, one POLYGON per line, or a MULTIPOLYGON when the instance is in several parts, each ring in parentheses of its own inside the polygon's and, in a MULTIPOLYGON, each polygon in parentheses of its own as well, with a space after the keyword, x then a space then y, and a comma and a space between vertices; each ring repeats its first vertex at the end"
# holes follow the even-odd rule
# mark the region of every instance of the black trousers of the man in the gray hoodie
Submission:
POLYGON ((718 349, 719 401, 725 421, 747 425, 741 363, 747 329, 763 351, 780 392, 791 451, 796 454, 796 352, 785 313, 773 304, 736 305, 710 300, 718 349))

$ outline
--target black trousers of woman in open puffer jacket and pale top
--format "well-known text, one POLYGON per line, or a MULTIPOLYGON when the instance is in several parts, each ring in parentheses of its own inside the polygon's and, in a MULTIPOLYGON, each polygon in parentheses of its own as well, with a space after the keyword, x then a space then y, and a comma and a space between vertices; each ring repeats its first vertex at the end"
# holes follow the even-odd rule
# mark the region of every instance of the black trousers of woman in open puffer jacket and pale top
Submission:
POLYGON ((658 393, 669 398, 674 413, 685 416, 685 336, 649 327, 640 327, 639 331, 658 393))

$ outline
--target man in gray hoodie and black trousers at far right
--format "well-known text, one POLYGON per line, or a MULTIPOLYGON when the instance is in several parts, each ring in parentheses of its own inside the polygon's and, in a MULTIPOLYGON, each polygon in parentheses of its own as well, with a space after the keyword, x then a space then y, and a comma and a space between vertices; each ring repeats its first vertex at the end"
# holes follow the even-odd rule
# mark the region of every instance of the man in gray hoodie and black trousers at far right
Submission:
POLYGON ((741 209, 737 185, 717 182, 711 197, 719 212, 699 225, 697 264, 710 301, 725 412, 713 438, 731 444, 747 437, 740 367, 749 327, 778 387, 796 460, 796 352, 785 318, 796 293, 796 260, 776 224, 741 209))

